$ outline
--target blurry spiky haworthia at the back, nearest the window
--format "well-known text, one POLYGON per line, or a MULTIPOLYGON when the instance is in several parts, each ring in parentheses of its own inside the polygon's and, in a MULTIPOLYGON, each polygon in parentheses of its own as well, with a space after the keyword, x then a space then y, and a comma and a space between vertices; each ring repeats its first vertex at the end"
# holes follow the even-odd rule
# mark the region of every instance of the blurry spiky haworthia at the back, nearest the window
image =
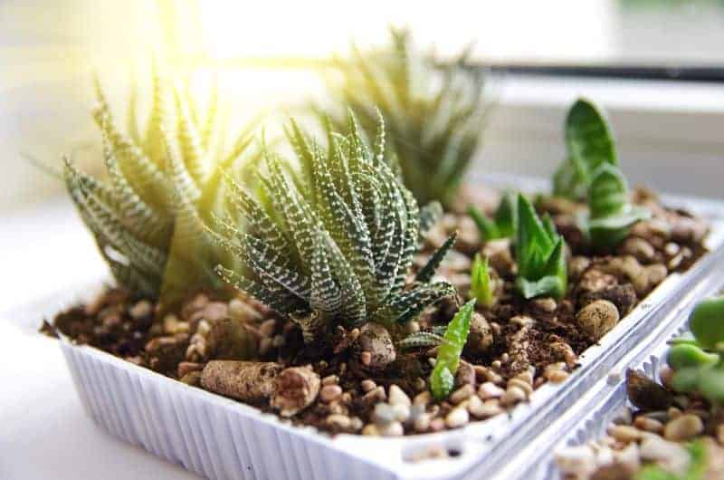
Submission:
MULTIPOLYGON (((368 138, 375 135, 376 108, 381 110, 388 155, 395 155, 405 186, 420 204, 449 204, 481 140, 488 110, 483 75, 464 68, 467 53, 436 72, 433 55, 417 52, 406 30, 392 28, 390 35, 383 50, 353 47, 351 58, 337 59, 340 78, 330 75, 329 89, 355 110, 368 138)), ((344 109, 338 110, 333 120, 341 131, 344 109)))

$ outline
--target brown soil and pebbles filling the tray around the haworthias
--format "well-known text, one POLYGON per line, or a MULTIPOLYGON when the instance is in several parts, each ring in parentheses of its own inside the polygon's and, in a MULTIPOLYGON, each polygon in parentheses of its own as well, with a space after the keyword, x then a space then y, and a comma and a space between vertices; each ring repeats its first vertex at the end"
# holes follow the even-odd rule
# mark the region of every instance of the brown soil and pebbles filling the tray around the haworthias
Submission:
MULTIPOLYGON (((110 289, 93 302, 60 313, 44 330, 59 331, 72 341, 332 434, 399 436, 462 427, 527 401, 548 381, 565 381, 579 355, 667 275, 686 270, 705 253, 702 241, 708 226, 703 220, 665 208, 643 189, 633 198, 648 206, 653 218, 633 226, 614 252, 594 252, 586 245, 575 221, 582 206, 557 198, 538 201, 538 210, 553 216, 567 241, 568 292, 561 301, 521 300, 513 290, 516 264, 510 239, 482 243, 468 216, 443 216, 414 265, 420 268, 433 249, 457 231, 455 250, 438 274, 458 288, 460 298, 391 329, 389 340, 397 342, 449 322, 467 299, 476 253, 489 258, 497 302, 492 308, 478 308, 473 317, 455 390, 442 402, 431 399, 427 383, 436 349, 392 348, 392 358, 378 359, 360 351, 365 350, 360 342, 369 337, 364 327, 337 327, 329 332, 326 347, 305 345, 296 324, 243 296, 229 300, 198 293, 174 311, 160 314, 155 302, 110 289), (253 362, 239 362, 250 355, 253 362), (223 364, 217 361, 214 369, 205 369, 212 360, 223 364), (386 360, 385 367, 372 369, 377 360, 386 360), (268 363, 264 381, 273 385, 244 383, 249 380, 245 376, 252 375, 246 373, 252 364, 259 371, 258 362, 268 363), (291 367, 305 369, 274 379, 291 367), (207 378, 211 370, 233 373, 218 381, 207 378), (242 384, 249 389, 241 391, 242 384)), ((385 339, 373 336, 371 341, 385 347, 385 339)))

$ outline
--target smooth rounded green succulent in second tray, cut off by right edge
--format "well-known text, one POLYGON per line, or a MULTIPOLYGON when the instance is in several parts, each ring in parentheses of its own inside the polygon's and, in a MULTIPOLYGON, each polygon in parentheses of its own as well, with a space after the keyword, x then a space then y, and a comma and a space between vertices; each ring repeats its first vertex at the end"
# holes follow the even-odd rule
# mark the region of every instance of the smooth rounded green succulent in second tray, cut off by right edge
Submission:
POLYGON ((724 404, 724 297, 699 302, 689 322, 693 338, 672 341, 667 354, 673 388, 724 404))

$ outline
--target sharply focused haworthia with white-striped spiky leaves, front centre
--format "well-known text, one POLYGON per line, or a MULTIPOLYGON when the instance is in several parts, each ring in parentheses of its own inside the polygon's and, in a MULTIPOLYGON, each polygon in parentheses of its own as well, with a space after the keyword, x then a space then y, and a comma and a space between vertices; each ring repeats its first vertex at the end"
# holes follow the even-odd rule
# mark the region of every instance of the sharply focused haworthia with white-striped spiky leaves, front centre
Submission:
POLYGON ((452 241, 407 284, 420 211, 386 157, 382 120, 371 149, 351 114, 347 130, 328 130, 322 149, 292 122, 300 170, 267 153, 262 201, 230 180, 229 201, 245 228, 220 219, 224 234, 215 235, 243 264, 217 272, 297 322, 308 342, 336 324, 407 322, 455 294, 450 283, 431 282, 452 241))

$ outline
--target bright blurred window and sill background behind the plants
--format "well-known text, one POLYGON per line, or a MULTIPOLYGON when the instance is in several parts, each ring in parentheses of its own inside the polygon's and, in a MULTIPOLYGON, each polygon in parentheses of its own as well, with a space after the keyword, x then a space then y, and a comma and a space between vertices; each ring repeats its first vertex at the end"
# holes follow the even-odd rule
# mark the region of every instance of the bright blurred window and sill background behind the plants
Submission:
POLYGON ((3 0, 0 212, 61 192, 24 155, 57 165, 73 154, 100 168, 93 72, 119 115, 153 58, 202 90, 216 72, 226 109, 243 119, 319 93, 312 69, 350 39, 385 42, 388 24, 408 25, 443 59, 473 43, 472 59, 495 73, 497 107, 473 176, 548 176, 564 110, 585 94, 609 111, 633 183, 724 197, 720 0, 3 0))

